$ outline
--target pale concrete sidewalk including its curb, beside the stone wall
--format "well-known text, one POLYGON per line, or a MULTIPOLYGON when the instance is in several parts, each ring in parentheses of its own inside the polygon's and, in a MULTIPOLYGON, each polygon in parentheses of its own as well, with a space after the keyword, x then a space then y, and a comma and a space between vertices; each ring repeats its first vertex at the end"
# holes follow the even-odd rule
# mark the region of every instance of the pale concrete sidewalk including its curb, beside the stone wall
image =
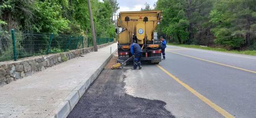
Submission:
POLYGON ((116 49, 113 43, 0 87, 0 118, 66 117, 116 49))

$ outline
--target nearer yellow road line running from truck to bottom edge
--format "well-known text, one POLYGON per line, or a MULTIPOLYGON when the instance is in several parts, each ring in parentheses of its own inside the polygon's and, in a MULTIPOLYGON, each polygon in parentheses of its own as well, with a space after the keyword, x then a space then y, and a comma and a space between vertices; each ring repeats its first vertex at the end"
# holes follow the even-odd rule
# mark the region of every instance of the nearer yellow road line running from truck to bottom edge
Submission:
POLYGON ((199 92, 191 88, 190 86, 186 85, 182 81, 180 81, 178 78, 173 76, 171 73, 169 73, 167 70, 162 68, 160 65, 157 64, 157 67, 159 67, 161 70, 163 70, 165 73, 167 73, 170 77, 172 77, 174 80, 176 80, 178 83, 180 83, 182 86, 184 86, 188 91, 192 92, 194 95, 196 95, 199 99, 203 100, 206 104, 214 108, 217 112, 219 112, 221 115, 223 115, 225 118, 235 118, 230 113, 219 107, 218 105, 214 104, 211 100, 207 99, 203 95, 201 95, 199 92))

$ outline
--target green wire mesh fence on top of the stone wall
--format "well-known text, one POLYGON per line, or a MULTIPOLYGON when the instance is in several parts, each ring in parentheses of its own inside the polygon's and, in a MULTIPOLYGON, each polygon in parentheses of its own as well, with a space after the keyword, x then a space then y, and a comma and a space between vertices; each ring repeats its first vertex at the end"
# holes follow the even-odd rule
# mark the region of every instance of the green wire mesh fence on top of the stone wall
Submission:
MULTIPOLYGON (((97 45, 113 42, 113 38, 97 38, 97 45)), ((53 35, 37 32, 0 32, 0 62, 24 57, 61 53, 92 47, 90 36, 53 35)))

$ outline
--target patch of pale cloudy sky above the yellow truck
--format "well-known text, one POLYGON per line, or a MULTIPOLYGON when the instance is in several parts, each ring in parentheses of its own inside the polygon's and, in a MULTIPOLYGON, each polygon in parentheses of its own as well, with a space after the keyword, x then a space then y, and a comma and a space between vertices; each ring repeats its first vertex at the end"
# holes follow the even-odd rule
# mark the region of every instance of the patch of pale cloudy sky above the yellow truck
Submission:
MULTIPOLYGON (((100 0, 102 1, 102 0, 100 0)), ((117 0, 120 9, 117 11, 139 11, 141 8, 145 8, 145 3, 147 2, 151 7, 157 0, 117 0)))

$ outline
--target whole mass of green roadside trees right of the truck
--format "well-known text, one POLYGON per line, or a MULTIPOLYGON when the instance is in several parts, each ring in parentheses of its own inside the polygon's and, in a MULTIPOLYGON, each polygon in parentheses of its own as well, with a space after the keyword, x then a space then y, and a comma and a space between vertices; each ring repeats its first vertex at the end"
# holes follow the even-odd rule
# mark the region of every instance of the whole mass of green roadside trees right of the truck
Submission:
POLYGON ((255 4, 255 0, 157 0, 156 10, 163 16, 157 30, 177 43, 251 47, 256 41, 255 4))

